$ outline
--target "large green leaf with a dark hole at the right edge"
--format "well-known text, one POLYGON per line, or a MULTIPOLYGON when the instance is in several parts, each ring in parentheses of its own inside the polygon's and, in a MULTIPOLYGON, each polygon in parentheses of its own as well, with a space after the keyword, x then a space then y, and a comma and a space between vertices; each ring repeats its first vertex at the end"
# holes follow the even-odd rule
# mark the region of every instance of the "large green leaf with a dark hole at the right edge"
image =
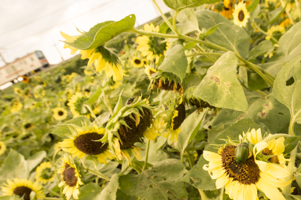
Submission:
POLYGON ((274 96, 278 101, 290 109, 292 123, 301 123, 301 56, 297 56, 278 73, 274 82, 274 96), (292 69, 293 68, 293 69, 292 69), (292 70, 291 70, 292 69, 292 70), (294 83, 287 86, 289 74, 293 75, 294 83))

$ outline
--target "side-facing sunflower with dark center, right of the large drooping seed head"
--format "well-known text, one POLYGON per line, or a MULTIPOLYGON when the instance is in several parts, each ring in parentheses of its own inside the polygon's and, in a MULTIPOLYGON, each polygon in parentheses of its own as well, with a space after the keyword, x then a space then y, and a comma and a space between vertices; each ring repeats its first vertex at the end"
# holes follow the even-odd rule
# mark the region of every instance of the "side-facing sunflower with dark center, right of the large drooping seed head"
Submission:
POLYGON ((166 132, 164 134, 164 137, 169 137, 172 141, 178 140, 178 134, 181 132, 181 124, 183 123, 185 119, 185 106, 182 102, 182 97, 177 100, 177 102, 173 102, 171 105, 169 105, 169 109, 167 110, 167 125, 166 125, 166 132), (175 106, 173 106, 175 105, 175 106))

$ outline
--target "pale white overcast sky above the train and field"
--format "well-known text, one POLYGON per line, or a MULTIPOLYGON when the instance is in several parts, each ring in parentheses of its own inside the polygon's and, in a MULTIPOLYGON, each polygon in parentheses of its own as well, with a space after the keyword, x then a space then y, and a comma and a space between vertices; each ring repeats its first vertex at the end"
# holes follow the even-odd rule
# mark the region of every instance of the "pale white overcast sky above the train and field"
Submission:
MULTIPOLYGON (((163 11, 162 0, 156 1, 163 11)), ((64 49, 60 31, 77 35, 74 25, 88 31, 92 26, 108 20, 118 21, 136 15, 136 26, 158 17, 149 0, 1 0, 0 52, 7 62, 41 50, 48 62, 73 57, 64 49)), ((0 59, 0 67, 5 63, 0 59)))

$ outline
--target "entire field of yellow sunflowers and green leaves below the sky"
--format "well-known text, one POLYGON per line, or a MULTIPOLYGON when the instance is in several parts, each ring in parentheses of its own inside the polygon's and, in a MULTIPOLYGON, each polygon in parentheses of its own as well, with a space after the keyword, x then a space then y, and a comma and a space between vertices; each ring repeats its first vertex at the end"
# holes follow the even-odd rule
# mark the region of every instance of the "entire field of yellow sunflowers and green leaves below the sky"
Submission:
POLYGON ((153 3, 0 92, 0 200, 301 199, 300 1, 153 3))

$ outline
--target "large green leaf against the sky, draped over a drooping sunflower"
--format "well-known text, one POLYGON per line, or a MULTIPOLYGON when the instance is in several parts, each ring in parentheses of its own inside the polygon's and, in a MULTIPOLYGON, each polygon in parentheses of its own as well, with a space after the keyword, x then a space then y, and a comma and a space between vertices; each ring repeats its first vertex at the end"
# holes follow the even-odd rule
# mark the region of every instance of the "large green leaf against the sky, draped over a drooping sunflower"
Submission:
POLYGON ((73 42, 65 43, 77 49, 93 49, 116 37, 120 33, 132 29, 135 26, 135 21, 135 15, 131 14, 117 22, 106 21, 99 23, 88 32, 76 38, 73 42))

